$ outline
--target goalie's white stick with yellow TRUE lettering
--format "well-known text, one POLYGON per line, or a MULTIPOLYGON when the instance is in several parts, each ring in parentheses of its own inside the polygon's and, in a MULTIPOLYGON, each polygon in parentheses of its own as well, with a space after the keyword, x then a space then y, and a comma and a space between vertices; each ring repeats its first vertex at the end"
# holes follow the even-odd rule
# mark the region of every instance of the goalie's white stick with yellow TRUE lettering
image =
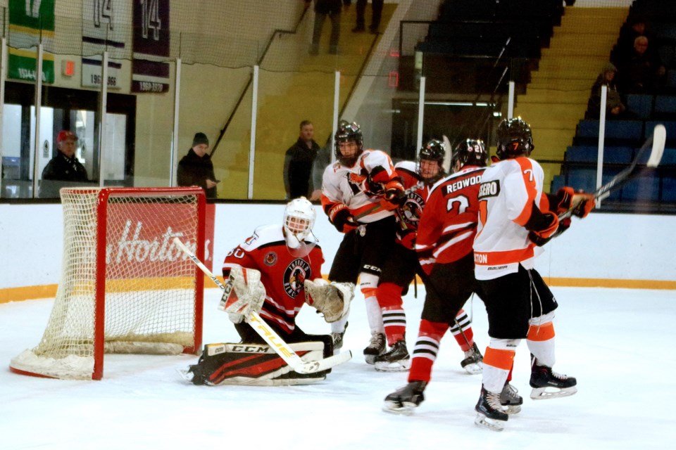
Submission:
MULTIPOLYGON (((191 252, 190 249, 187 248, 179 238, 174 238, 173 242, 178 248, 182 250, 182 252, 185 253, 185 255, 187 255, 187 257, 192 259, 192 262, 194 262, 195 265, 198 266, 206 276, 211 278, 211 281, 213 281, 215 285, 223 290, 223 298, 220 300, 220 304, 225 306, 225 301, 232 290, 232 283, 226 282, 224 285, 218 281, 218 278, 216 278, 216 276, 212 274, 211 271, 207 269, 207 267, 202 264, 199 259, 197 259, 194 253, 191 252)), ((259 316, 257 312, 253 311, 248 317, 244 316, 244 321, 249 323, 251 328, 253 328, 256 333, 261 335, 261 338, 263 338, 265 342, 268 342, 268 345, 270 345, 270 347, 275 350, 275 352, 277 352, 277 354, 279 354, 282 359, 284 359, 284 362, 289 364, 289 366, 298 373, 315 373, 325 371, 329 368, 332 368, 333 366, 337 366, 338 364, 349 361, 352 358, 352 352, 347 351, 334 356, 329 356, 325 359, 320 359, 320 361, 303 361, 301 357, 298 356, 298 354, 296 354, 296 352, 294 352, 291 347, 289 347, 287 342, 284 342, 284 340, 280 338, 280 335, 275 333, 275 330, 270 328, 268 323, 265 323, 265 321, 261 319, 261 316, 259 316)))

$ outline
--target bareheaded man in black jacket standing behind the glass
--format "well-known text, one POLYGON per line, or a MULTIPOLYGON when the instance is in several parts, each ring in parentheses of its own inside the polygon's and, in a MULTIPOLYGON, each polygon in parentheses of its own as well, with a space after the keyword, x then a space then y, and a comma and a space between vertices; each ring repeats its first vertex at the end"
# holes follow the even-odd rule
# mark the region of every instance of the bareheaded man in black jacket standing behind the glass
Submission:
POLYGON ((298 141, 284 155, 284 190, 287 199, 311 197, 310 176, 319 151, 319 144, 313 139, 314 134, 312 122, 303 120, 298 141))

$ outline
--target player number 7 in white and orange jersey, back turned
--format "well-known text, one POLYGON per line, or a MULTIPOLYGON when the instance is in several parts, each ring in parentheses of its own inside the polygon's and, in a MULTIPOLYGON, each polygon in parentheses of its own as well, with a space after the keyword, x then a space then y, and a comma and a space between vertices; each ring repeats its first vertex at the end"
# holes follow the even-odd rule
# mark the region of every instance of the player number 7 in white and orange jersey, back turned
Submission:
POLYGON ((474 240, 475 276, 488 313, 489 346, 475 423, 502 430, 508 415, 500 394, 513 365, 515 348, 526 339, 532 354, 532 399, 577 392, 575 378, 551 370, 554 364, 553 294, 534 269, 542 245, 568 228, 557 214, 575 206, 585 217, 593 196, 561 188, 543 193, 544 172, 530 159, 534 149, 530 125, 520 117, 503 120, 497 129, 497 157, 484 172, 479 193, 480 217, 474 240), (546 391, 552 387, 553 392, 546 391))

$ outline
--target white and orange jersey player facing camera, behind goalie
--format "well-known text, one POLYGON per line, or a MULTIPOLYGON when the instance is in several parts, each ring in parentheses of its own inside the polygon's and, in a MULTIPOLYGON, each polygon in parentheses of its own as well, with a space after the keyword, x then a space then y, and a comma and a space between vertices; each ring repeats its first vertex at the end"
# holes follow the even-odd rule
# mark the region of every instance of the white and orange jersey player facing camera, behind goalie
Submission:
MULTIPOLYGON (((403 186, 387 153, 363 148, 361 129, 355 122, 342 120, 334 141, 337 161, 324 171, 322 206, 344 236, 329 278, 344 283, 359 279, 371 332, 364 358, 373 364, 386 348, 375 291, 382 263, 394 243, 393 210, 403 201, 403 186)), ((334 347, 342 346, 346 325, 347 317, 332 324, 334 347)))

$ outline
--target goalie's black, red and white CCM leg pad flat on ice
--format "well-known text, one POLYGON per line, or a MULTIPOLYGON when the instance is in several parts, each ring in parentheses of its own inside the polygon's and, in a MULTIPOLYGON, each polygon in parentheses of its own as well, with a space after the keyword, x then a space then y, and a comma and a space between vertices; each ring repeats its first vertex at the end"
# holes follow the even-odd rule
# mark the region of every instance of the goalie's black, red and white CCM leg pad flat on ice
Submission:
MULTIPOLYGON (((303 361, 323 358, 322 342, 297 342, 290 347, 303 361)), ((286 386, 317 383, 326 371, 301 374, 263 344, 207 344, 197 364, 190 366, 194 385, 286 386)))

